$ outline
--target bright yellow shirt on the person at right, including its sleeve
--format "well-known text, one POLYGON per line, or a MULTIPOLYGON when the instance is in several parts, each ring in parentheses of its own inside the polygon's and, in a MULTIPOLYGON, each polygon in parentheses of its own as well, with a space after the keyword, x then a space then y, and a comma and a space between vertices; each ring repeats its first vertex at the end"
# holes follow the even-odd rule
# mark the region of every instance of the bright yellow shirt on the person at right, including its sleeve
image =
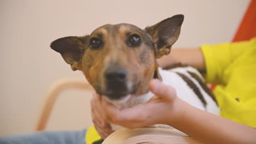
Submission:
POLYGON ((202 45, 206 81, 217 83, 213 93, 220 116, 256 127, 256 38, 239 43, 202 45))

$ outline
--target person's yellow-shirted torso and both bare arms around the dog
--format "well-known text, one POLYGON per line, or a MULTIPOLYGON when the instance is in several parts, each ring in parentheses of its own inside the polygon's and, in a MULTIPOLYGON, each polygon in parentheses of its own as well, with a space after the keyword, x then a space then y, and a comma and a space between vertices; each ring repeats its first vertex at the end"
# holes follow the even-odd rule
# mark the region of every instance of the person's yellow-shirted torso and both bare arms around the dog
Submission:
POLYGON ((107 122, 131 129, 162 123, 206 143, 256 143, 256 38, 201 49, 174 49, 159 60, 162 67, 177 62, 204 71, 207 82, 218 84, 213 93, 222 117, 185 103, 174 88, 152 80, 150 91, 156 97, 143 106, 118 110, 94 95, 92 118, 98 133, 103 138, 112 133, 107 122))

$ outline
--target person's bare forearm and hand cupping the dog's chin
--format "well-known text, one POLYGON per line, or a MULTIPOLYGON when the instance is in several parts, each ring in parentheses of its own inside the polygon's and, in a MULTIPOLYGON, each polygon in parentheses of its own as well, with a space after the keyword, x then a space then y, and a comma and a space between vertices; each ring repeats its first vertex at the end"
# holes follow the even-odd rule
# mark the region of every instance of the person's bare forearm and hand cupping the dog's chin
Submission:
POLYGON ((205 143, 256 143, 255 128, 199 110, 179 99, 173 87, 152 80, 150 91, 158 97, 129 109, 118 110, 104 100, 94 104, 101 107, 103 121, 131 129, 162 123, 205 143))

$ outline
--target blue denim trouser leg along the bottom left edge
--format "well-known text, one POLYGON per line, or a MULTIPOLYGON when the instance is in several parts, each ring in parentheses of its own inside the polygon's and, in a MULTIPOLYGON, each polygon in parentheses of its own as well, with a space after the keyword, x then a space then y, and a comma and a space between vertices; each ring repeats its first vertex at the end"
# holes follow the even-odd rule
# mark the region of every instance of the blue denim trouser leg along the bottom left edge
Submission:
POLYGON ((39 131, 0 137, 0 144, 85 144, 86 130, 39 131))

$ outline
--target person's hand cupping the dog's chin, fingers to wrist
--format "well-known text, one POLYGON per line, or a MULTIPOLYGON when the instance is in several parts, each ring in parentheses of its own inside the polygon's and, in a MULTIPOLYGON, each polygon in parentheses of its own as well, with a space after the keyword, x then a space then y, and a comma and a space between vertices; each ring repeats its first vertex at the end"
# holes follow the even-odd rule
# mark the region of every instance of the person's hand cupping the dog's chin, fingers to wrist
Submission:
POLYGON ((98 109, 103 111, 103 121, 130 129, 174 122, 182 110, 175 89, 162 84, 159 80, 150 81, 149 88, 157 96, 147 104, 136 105, 129 109, 118 110, 113 105, 101 100, 101 105, 98 105, 101 108, 98 109))

